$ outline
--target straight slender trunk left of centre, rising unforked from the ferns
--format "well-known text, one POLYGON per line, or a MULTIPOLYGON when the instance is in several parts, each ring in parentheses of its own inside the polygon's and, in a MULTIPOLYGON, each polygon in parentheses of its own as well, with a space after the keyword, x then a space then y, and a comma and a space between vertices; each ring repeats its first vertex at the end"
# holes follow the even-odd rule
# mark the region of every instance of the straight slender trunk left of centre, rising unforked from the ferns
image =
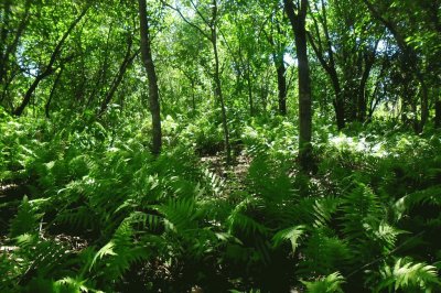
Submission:
POLYGON ((141 35, 141 57, 149 79, 149 104, 152 116, 152 153, 158 155, 162 146, 161 131, 161 108, 159 102, 158 77, 151 54, 151 39, 149 21, 147 17, 146 0, 138 0, 140 35, 141 35))

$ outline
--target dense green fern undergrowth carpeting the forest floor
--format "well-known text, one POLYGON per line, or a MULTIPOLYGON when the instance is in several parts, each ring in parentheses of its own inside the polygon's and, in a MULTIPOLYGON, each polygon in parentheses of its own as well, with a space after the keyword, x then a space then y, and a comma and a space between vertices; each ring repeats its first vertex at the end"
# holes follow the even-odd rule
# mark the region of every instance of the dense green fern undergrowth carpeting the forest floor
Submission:
POLYGON ((168 117, 158 158, 137 118, 84 119, 1 113, 1 292, 441 290, 440 133, 319 129, 306 176, 287 119, 243 121, 237 181, 206 119, 168 117))

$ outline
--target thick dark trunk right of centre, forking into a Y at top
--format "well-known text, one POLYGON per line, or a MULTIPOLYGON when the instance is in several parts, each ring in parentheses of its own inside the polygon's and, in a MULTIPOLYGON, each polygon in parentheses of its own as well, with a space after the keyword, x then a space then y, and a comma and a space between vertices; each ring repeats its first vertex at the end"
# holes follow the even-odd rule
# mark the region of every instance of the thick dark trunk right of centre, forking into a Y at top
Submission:
POLYGON ((297 13, 292 0, 283 0, 283 3, 294 33, 299 63, 299 160, 304 171, 312 171, 314 167, 311 145, 312 97, 305 29, 308 0, 300 1, 297 13))

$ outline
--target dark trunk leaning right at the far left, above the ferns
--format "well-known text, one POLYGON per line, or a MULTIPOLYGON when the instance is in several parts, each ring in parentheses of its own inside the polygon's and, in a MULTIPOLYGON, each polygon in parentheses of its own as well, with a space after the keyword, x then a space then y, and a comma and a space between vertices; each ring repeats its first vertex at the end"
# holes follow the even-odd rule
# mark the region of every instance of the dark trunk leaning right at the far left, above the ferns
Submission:
POLYGON ((72 33, 72 31, 75 29, 75 26, 78 24, 78 22, 84 18, 84 15, 86 15, 87 10, 90 8, 90 6, 87 6, 82 13, 74 20, 74 22, 71 23, 69 28, 67 29, 67 31, 63 34, 62 39, 58 41, 58 43, 56 44, 54 51, 52 52, 51 55, 51 59, 49 62, 49 64, 46 65, 46 67, 44 68, 44 70, 42 73, 40 73, 34 82, 32 83, 31 87, 28 89, 26 94, 23 97, 23 100, 21 102, 21 105, 15 109, 14 115, 15 116, 21 116, 21 113, 23 112, 24 108, 28 106, 28 104, 31 100, 32 94, 34 93, 34 90, 36 89, 36 87, 39 86, 39 84, 46 78, 47 76, 50 76, 54 70, 54 64, 57 61, 60 53, 63 48, 64 42, 67 40, 67 37, 69 36, 69 34, 72 33))

